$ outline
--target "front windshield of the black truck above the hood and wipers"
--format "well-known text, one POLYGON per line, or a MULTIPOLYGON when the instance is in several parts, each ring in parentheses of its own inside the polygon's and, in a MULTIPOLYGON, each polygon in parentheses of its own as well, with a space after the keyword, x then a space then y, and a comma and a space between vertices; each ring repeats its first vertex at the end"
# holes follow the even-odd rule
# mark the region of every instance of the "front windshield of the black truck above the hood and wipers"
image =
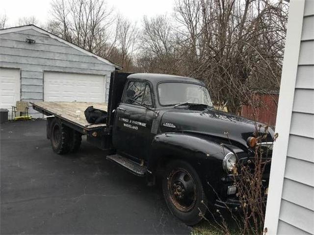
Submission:
POLYGON ((158 85, 161 105, 176 105, 184 102, 212 106, 206 87, 180 82, 164 82, 158 85))

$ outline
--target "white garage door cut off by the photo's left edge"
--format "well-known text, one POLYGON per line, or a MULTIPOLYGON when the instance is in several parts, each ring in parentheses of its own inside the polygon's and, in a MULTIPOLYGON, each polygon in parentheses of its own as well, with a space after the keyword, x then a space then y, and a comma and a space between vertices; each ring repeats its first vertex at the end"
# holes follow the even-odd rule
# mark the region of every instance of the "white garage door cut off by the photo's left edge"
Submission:
POLYGON ((0 108, 11 111, 11 106, 16 106, 18 100, 20 100, 20 70, 0 68, 0 108))

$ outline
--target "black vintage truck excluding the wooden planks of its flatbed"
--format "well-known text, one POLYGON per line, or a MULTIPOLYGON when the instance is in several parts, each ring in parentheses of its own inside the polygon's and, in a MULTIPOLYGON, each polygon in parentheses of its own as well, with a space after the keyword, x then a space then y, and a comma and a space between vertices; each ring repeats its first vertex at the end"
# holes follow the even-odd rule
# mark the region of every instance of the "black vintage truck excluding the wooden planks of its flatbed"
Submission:
MULTIPOLYGON (((202 81, 168 74, 114 72, 109 93, 107 122, 98 128, 78 127, 64 114, 58 116, 33 104, 44 114, 53 115, 50 124, 47 122, 49 138, 54 136, 55 125, 61 130, 61 137, 55 135, 59 137, 57 144, 52 140, 52 149, 64 153, 56 147, 68 150, 79 135, 87 135, 87 141, 107 150, 108 160, 147 177, 149 184, 161 176, 169 210, 188 225, 198 223, 209 205, 240 206, 235 168, 254 162, 257 144, 265 149, 263 157, 271 158, 272 129, 216 110, 202 81)), ((269 170, 270 163, 264 170, 265 190, 269 170)))

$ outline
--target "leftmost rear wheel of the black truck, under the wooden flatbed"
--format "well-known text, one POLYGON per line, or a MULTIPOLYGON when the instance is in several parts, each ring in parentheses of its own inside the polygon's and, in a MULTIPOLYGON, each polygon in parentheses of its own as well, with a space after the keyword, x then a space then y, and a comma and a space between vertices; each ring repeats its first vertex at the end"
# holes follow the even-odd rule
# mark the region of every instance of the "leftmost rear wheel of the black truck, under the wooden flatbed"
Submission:
POLYGON ((52 120, 50 141, 56 154, 66 154, 70 151, 71 129, 63 125, 58 118, 52 120))

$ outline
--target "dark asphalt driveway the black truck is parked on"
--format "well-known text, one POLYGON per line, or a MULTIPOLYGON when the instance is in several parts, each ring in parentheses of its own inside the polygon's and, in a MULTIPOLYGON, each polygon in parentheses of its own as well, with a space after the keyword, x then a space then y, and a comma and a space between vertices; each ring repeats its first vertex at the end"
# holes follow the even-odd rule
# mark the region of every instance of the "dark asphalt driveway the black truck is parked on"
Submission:
POLYGON ((46 121, 0 125, 1 234, 189 234, 147 187, 86 141, 56 155, 46 121))

